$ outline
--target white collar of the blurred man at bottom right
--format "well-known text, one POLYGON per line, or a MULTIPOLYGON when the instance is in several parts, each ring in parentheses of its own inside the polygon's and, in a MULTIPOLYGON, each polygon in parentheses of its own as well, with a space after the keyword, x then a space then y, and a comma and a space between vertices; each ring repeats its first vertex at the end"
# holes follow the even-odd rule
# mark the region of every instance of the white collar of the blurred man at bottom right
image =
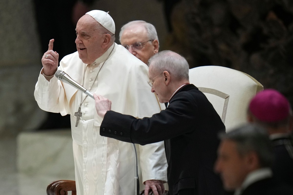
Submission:
POLYGON ((234 195, 240 195, 242 194, 242 191, 246 189, 249 185, 259 181, 263 180, 265 178, 272 177, 272 170, 270 168, 260 168, 258 170, 255 170, 253 172, 250 172, 244 182, 242 183, 241 187, 239 189, 235 190, 234 195))

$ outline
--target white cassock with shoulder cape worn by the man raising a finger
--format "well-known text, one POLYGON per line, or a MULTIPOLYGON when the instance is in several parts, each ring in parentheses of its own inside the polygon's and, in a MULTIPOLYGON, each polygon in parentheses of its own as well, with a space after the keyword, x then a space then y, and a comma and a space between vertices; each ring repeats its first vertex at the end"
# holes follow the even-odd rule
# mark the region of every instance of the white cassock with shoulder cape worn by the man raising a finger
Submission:
MULTIPOLYGON (((114 44, 92 64, 84 64, 79 59, 78 52, 69 54, 62 59, 58 69, 80 84, 84 77, 84 87, 89 89, 113 46, 114 44)), ((151 93, 148 80, 147 65, 123 46, 115 44, 90 92, 110 99, 113 111, 137 118, 151 117, 160 112, 164 105, 151 93)), ((85 94, 82 98, 84 97, 85 94)), ((75 127, 74 113, 81 103, 81 92, 74 87, 56 77, 52 77, 49 82, 41 71, 35 86, 35 99, 45 111, 71 115, 77 194, 134 194, 132 144, 100 136, 102 118, 96 112, 93 99, 87 97, 82 104, 78 127, 75 127)), ((142 172, 140 182, 167 181, 163 142, 137 148, 142 172)))

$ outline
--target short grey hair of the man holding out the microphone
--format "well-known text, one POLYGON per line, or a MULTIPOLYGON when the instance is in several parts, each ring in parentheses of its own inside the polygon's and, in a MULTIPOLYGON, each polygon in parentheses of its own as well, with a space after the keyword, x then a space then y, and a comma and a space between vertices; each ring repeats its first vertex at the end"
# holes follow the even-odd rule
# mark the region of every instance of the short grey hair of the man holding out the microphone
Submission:
POLYGON ((148 65, 159 73, 168 71, 169 74, 178 80, 189 81, 189 65, 186 59, 176 52, 165 50, 160 51, 149 59, 148 65))

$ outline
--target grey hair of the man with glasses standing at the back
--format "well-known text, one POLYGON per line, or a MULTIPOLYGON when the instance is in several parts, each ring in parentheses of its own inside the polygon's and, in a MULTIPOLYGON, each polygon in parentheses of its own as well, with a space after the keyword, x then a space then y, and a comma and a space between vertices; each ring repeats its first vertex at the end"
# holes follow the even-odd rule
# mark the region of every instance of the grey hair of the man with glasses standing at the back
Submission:
POLYGON ((126 30, 129 27, 135 26, 135 25, 143 25, 145 27, 145 29, 147 30, 147 38, 149 40, 157 39, 159 42, 157 31, 156 31, 156 28, 154 27, 154 25, 152 25, 151 23, 147 23, 146 21, 143 21, 143 20, 134 20, 134 21, 131 21, 121 27, 121 30, 119 32, 120 43, 121 43, 121 36, 122 36, 122 33, 124 32, 124 30, 126 30))

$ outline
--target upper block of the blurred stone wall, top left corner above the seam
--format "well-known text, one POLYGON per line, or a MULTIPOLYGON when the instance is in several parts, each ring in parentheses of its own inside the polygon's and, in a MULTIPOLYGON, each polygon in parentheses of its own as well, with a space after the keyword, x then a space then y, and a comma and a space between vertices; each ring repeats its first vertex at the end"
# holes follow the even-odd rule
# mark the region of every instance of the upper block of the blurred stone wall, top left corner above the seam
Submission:
POLYGON ((40 45, 30 0, 0 1, 0 67, 40 63, 40 45))

